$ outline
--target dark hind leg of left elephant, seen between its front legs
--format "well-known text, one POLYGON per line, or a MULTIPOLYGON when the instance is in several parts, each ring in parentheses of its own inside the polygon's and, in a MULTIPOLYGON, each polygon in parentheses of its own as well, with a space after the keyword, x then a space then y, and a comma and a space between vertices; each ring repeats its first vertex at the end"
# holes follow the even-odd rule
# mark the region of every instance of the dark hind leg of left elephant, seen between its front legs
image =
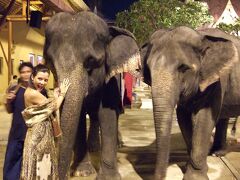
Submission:
POLYGON ((96 112, 90 112, 90 127, 88 132, 88 150, 89 152, 98 152, 100 150, 100 128, 96 112))

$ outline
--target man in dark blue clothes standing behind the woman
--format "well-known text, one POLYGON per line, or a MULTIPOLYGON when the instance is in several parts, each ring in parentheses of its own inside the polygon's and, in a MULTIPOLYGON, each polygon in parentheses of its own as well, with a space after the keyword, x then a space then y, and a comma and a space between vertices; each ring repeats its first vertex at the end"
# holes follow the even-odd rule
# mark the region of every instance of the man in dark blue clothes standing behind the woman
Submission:
POLYGON ((25 109, 24 92, 32 69, 30 62, 23 62, 18 68, 19 84, 9 88, 6 92, 5 107, 8 113, 13 113, 13 119, 3 166, 3 180, 20 179, 23 145, 27 131, 21 112, 25 109))

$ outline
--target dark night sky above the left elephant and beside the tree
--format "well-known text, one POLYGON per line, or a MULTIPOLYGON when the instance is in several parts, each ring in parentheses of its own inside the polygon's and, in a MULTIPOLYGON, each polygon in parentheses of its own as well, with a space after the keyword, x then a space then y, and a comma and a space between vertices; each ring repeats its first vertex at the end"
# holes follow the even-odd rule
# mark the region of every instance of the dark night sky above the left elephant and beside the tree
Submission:
MULTIPOLYGON (((127 9, 137 0, 98 0, 98 12, 108 20, 114 20, 116 14, 127 9)), ((93 10, 94 0, 84 0, 84 2, 93 10)))

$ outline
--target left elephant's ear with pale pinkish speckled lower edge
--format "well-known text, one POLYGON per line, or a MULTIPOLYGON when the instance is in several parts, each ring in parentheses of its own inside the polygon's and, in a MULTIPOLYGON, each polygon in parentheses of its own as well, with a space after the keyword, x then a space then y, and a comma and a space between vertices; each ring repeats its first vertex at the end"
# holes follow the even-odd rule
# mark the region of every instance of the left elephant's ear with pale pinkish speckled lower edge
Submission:
POLYGON ((106 82, 116 74, 129 72, 139 76, 141 64, 139 48, 132 33, 125 29, 110 27, 112 39, 106 50, 106 82))

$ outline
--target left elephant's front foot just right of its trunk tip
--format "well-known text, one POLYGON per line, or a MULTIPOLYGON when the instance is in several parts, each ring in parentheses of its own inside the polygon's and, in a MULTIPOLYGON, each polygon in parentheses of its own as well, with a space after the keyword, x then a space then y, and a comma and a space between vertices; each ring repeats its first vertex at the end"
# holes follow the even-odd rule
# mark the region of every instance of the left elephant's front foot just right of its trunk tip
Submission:
POLYGON ((93 167, 93 165, 91 164, 91 162, 84 162, 81 163, 73 172, 72 172, 72 176, 75 177, 86 177, 86 176, 90 176, 91 174, 95 174, 96 170, 93 167))

